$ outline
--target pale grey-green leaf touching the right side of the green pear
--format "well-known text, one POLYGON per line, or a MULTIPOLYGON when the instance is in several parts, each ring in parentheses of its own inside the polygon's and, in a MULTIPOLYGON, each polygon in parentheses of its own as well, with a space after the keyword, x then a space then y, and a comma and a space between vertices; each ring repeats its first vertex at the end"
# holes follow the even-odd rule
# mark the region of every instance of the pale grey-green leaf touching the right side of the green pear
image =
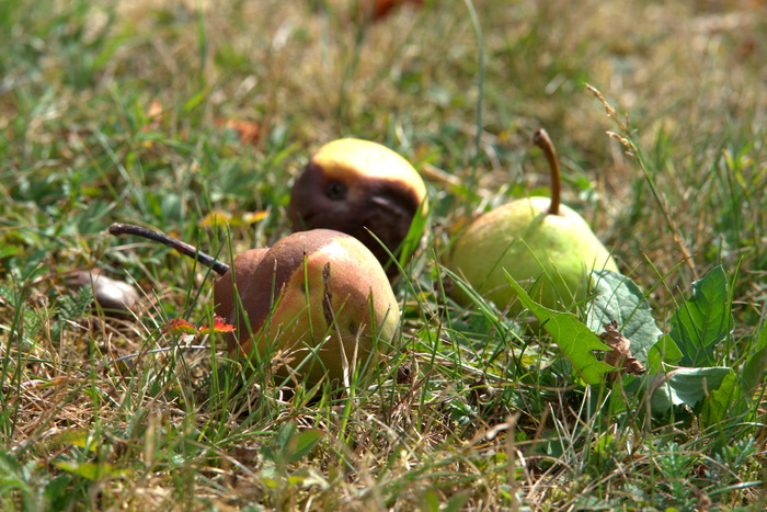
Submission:
POLYGON ((648 351, 663 334, 655 323, 652 308, 637 283, 609 270, 593 271, 596 297, 588 308, 586 322, 593 332, 615 321, 620 333, 631 342, 631 354, 644 364, 648 351))

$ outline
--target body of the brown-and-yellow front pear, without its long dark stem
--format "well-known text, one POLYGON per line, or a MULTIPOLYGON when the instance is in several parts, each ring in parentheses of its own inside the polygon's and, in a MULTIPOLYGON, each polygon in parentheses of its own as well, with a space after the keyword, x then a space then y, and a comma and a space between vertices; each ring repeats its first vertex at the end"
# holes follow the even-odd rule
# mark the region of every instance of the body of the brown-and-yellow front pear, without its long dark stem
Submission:
POLYGON ((248 322, 236 307, 231 270, 214 287, 216 314, 238 328, 228 338, 232 357, 255 361, 255 353, 264 356, 267 348, 289 351, 295 369, 308 348, 330 337, 318 352, 321 364, 310 359, 297 372, 313 383, 325 374, 342 380, 342 343, 351 366, 357 343, 357 364, 365 364, 388 352, 396 339, 400 311, 389 280, 373 253, 351 236, 329 229, 295 232, 271 249, 240 254, 232 268, 248 322))

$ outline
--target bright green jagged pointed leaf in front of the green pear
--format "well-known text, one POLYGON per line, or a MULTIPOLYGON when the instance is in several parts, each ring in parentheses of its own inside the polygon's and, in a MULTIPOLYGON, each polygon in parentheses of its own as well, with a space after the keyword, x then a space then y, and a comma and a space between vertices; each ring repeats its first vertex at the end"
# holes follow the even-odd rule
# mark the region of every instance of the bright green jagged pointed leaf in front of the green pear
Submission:
POLYGON ((609 350, 594 332, 581 323, 575 315, 554 311, 535 303, 527 292, 506 273, 522 304, 529 309, 543 328, 551 334, 564 355, 570 360, 581 377, 588 384, 599 384, 607 372, 615 369, 607 363, 597 360, 593 350, 609 350))

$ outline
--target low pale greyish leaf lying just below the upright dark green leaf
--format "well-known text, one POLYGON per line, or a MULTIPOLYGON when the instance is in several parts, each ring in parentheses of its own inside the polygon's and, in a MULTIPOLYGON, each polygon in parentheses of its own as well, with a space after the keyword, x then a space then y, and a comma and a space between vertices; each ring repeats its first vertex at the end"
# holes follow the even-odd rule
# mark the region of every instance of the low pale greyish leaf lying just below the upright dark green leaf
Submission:
POLYGON ((719 389, 731 372, 726 366, 677 368, 649 380, 652 388, 653 412, 666 412, 674 406, 695 407, 711 391, 719 389))

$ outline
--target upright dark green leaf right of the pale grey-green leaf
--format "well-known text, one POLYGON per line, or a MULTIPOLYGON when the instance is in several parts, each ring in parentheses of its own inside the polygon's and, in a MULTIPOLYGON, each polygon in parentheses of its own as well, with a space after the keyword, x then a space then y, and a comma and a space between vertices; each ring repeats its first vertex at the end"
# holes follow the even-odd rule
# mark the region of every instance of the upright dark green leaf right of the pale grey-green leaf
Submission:
POLYGON ((733 328, 728 281, 716 266, 692 283, 692 296, 671 320, 671 337, 682 350, 684 366, 713 366, 713 349, 733 328))

